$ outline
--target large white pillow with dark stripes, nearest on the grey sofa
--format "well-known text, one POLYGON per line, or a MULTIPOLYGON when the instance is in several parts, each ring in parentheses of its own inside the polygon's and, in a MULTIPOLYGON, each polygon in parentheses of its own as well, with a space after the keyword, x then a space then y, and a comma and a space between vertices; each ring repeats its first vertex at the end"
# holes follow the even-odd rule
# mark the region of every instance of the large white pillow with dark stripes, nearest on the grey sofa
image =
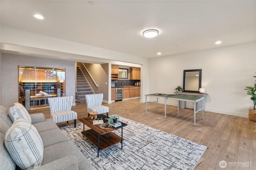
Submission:
POLYGON ((19 117, 5 134, 4 144, 12 160, 22 170, 41 166, 44 146, 36 128, 19 117))

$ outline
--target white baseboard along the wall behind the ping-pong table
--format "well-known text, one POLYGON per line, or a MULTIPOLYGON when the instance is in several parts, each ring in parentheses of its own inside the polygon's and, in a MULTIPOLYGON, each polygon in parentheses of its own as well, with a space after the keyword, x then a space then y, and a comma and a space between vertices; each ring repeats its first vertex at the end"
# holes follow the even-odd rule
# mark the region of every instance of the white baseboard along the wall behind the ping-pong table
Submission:
MULTIPOLYGON (((155 101, 156 100, 150 99, 148 102, 155 102, 155 101)), ((164 100, 158 100, 158 103, 164 104, 164 100)), ((170 102, 168 100, 167 100, 166 104, 167 105, 171 105, 171 106, 178 106, 178 102, 175 103, 175 102, 170 102)), ((188 104, 186 104, 186 108, 194 109, 194 107, 192 107, 192 106, 190 106, 188 104)), ((235 111, 228 111, 228 110, 222 110, 222 109, 214 109, 214 108, 209 108, 209 107, 205 107, 204 110, 205 111, 214 112, 214 113, 221 113, 221 114, 225 114, 225 115, 232 115, 232 116, 239 116, 239 117, 246 117, 246 118, 248 118, 248 113, 240 113, 240 112, 235 112, 235 111)))

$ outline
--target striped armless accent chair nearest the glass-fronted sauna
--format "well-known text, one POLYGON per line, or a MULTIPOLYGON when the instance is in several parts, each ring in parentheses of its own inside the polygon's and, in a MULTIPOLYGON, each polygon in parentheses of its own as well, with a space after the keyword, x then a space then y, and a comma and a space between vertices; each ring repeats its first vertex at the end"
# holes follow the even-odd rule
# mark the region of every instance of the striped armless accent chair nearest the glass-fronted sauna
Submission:
POLYGON ((48 98, 50 113, 52 120, 55 123, 74 120, 74 127, 76 127, 77 113, 71 110, 73 96, 48 98))

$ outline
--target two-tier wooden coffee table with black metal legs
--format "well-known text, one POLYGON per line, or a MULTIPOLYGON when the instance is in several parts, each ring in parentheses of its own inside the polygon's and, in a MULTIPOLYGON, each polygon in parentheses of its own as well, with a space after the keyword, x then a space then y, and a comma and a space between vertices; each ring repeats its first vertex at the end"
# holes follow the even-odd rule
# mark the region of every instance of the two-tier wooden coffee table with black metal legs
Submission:
MULTIPOLYGON (((106 115, 100 114, 97 115, 97 118, 102 118, 104 123, 107 121, 105 118, 107 118, 106 115)), ((84 123, 84 125, 90 127, 91 129, 87 131, 82 131, 81 133, 89 139, 94 145, 98 147, 98 157, 99 157, 99 151, 107 149, 111 147, 112 145, 115 145, 116 143, 121 143, 121 149, 123 149, 123 127, 127 126, 126 123, 122 123, 119 127, 109 127, 109 129, 101 129, 100 125, 93 125, 90 117, 83 117, 78 119, 80 122, 84 123), (112 131, 116 129, 122 129, 122 135, 121 137, 112 133, 112 131)))

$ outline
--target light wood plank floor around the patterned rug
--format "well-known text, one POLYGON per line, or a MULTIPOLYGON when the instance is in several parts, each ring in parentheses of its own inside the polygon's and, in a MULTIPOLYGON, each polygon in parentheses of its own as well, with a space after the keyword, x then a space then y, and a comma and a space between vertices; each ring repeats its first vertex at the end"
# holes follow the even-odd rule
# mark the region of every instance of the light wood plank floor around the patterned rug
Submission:
MULTIPOLYGON (((193 126, 193 110, 166 106, 166 119, 164 119, 164 105, 148 105, 145 114, 145 103, 139 99, 103 104, 110 109, 110 115, 118 114, 127 119, 137 121, 150 127, 160 129, 167 133, 205 145, 207 147, 202 158, 196 165, 196 170, 222 169, 221 160, 226 162, 252 162, 250 167, 226 167, 224 169, 252 169, 256 170, 256 122, 247 118, 212 113, 205 111, 204 120, 201 113, 196 116, 196 127, 193 126)), ((78 113, 78 118, 88 115, 86 103, 76 103, 72 110, 78 113)), ((50 118, 49 108, 30 111, 30 113, 44 113, 50 118)), ((78 122, 79 123, 79 122, 78 122)), ((73 124, 73 121, 59 123, 59 127, 73 124)))

